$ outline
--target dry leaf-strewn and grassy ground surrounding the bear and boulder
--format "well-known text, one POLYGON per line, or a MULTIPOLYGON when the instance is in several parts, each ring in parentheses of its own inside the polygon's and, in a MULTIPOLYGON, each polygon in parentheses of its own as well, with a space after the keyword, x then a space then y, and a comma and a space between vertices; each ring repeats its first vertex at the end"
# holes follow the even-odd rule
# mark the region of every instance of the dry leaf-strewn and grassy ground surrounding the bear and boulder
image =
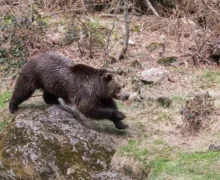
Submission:
MULTIPOLYGON (((60 40, 67 26, 65 23, 68 22, 65 18, 61 14, 46 16, 45 37, 50 42, 60 40)), ((103 27, 104 29, 112 27, 113 18, 96 15, 92 16, 92 19, 91 26, 97 29, 97 32, 103 27)), ((124 29, 123 17, 119 15, 116 22, 112 36, 115 41, 119 41, 123 37, 121 31, 124 29)), ((113 124, 106 120, 93 121, 91 128, 115 138, 118 142, 118 150, 112 159, 112 166, 133 179, 148 177, 147 179, 156 180, 217 180, 220 179, 220 152, 210 151, 209 146, 220 142, 218 121, 220 71, 217 65, 200 64, 195 67, 190 57, 181 56, 195 46, 192 40, 194 38, 192 29, 193 31, 200 29, 195 24, 189 27, 188 24, 184 24, 183 19, 179 36, 180 33, 174 33, 177 32, 176 24, 176 20, 167 18, 132 16, 130 24, 132 43, 129 45, 125 58, 115 63, 103 59, 105 46, 96 47, 98 49, 94 50, 93 59, 89 58, 88 51, 85 56, 81 57, 75 41, 50 50, 62 53, 76 62, 95 67, 123 69, 122 79, 130 93, 136 92, 137 84, 134 80, 140 77, 143 70, 152 67, 168 70, 169 79, 156 85, 142 83, 138 87, 142 96, 140 99, 136 98, 127 102, 117 101, 119 109, 127 116, 124 122, 129 125, 128 129, 116 130, 113 124), (164 66, 158 63, 161 57, 177 57, 177 63, 164 66), (183 120, 179 111, 189 99, 189 95, 196 90, 208 91, 214 99, 216 110, 210 115, 205 127, 197 133, 189 133, 181 128, 183 120), (161 106, 157 102, 159 97, 169 98, 171 105, 161 106)), ((12 74, 2 73, 0 77, 0 113, 2 114, 0 130, 7 126, 8 119, 12 117, 8 111, 8 99, 13 91, 13 85, 12 74)), ((22 106, 47 107, 43 99, 38 96, 30 98, 22 106)))

